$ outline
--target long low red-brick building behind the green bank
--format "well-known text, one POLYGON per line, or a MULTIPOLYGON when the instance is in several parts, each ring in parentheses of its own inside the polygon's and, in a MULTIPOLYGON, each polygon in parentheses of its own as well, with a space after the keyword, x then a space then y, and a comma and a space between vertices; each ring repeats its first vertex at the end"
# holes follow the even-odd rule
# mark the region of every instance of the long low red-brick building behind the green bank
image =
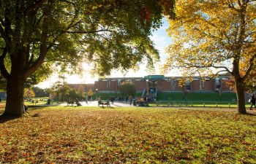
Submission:
MULTIPOLYGON (((231 88, 225 85, 225 81, 230 77, 222 76, 216 79, 201 79, 192 77, 185 85, 180 86, 179 81, 184 77, 165 77, 163 75, 148 75, 146 77, 113 77, 99 78, 94 82, 94 91, 99 93, 116 93, 118 87, 123 82, 135 84, 138 93, 142 93, 146 88, 155 88, 157 92, 231 92, 231 88)), ((186 79, 185 79, 186 80, 186 79)), ((92 85, 91 85, 92 86, 92 85)))

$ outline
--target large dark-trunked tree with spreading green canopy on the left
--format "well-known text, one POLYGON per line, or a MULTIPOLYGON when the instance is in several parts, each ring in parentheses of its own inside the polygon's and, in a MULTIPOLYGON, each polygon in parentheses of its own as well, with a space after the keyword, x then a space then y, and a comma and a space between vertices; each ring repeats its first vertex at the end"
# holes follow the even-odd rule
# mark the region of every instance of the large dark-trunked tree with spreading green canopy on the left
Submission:
MULTIPOLYGON (((173 0, 2 0, 0 71, 7 80, 3 116, 21 116, 28 77, 53 63, 78 71, 81 60, 110 74, 159 58, 149 36, 162 13, 173 16, 173 0)), ((53 67, 54 68, 54 67, 53 67)))

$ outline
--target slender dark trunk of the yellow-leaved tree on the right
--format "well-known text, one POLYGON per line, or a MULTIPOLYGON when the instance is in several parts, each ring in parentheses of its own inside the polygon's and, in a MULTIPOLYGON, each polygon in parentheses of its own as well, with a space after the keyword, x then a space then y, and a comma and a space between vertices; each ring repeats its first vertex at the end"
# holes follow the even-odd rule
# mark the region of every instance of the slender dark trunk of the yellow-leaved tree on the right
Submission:
POLYGON ((236 80, 236 96, 237 96, 238 112, 241 114, 246 114, 245 99, 244 99, 244 84, 239 80, 236 80))

